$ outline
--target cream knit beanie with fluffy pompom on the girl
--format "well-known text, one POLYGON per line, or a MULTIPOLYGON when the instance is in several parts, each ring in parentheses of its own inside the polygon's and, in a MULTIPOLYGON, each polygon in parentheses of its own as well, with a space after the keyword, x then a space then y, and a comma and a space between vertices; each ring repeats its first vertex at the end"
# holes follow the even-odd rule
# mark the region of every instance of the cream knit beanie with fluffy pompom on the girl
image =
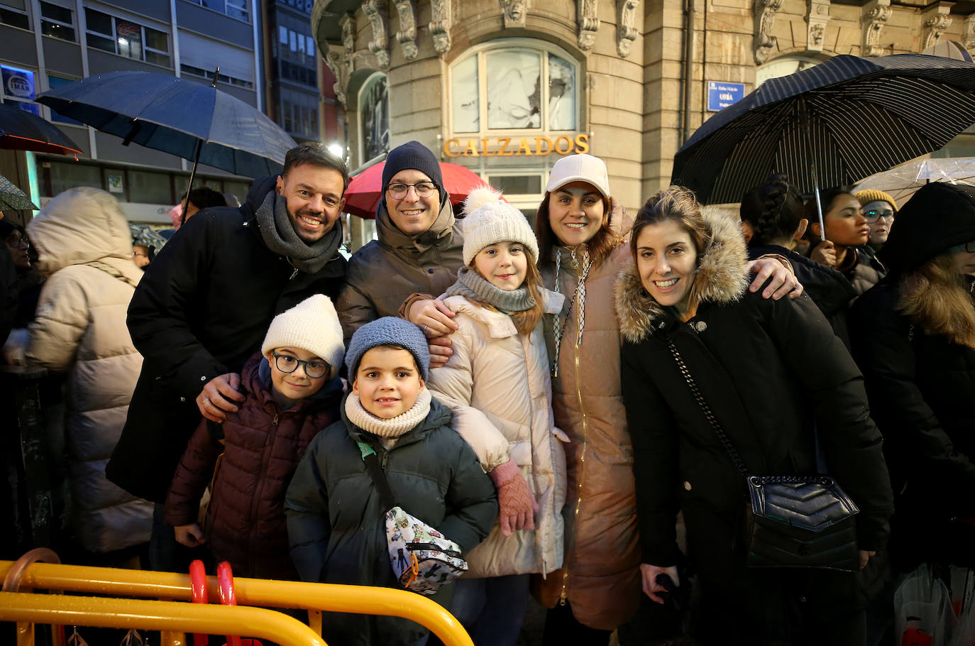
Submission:
POLYGON ((501 193, 490 186, 475 188, 464 200, 464 264, 478 252, 498 242, 520 242, 532 262, 538 262, 538 242, 525 214, 501 200, 501 193))

